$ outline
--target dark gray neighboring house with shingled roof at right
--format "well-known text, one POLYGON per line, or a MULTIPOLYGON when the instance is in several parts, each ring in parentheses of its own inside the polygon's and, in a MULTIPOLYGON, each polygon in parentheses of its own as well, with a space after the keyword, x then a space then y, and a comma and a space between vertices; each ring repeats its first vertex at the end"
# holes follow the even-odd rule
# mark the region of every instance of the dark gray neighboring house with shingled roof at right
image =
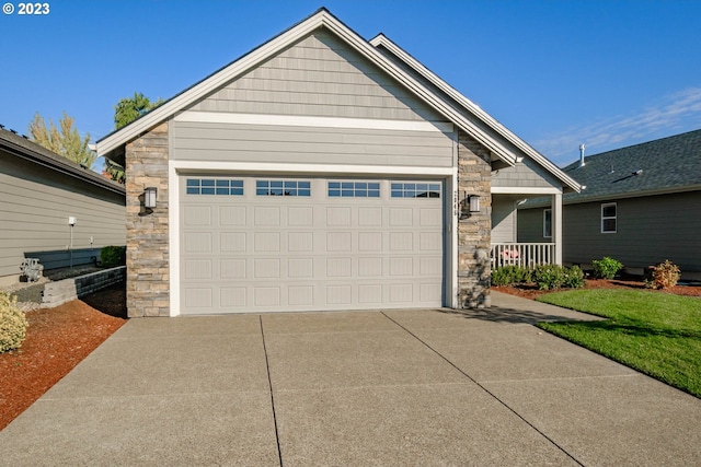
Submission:
MULTIPOLYGON (((610 256, 631 273, 665 259, 701 278, 701 130, 584 157, 564 172, 586 186, 563 198, 563 259, 610 256)), ((548 238, 548 200, 518 210, 518 241, 548 238)))

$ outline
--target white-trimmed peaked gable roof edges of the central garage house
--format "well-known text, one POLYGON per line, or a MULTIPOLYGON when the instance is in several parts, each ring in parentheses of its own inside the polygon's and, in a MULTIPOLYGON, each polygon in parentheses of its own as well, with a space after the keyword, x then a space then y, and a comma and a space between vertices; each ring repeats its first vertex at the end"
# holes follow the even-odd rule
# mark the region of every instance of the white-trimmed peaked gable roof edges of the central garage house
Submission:
MULTIPOLYGON (((409 66, 409 69, 400 66, 401 63, 398 63, 395 59, 388 57, 372 44, 365 40, 324 8, 198 83, 195 83, 193 86, 175 95, 131 124, 102 138, 96 143, 97 153, 108 159, 118 156, 124 145, 129 141, 169 119, 177 112, 193 105, 198 100, 204 98, 227 83, 243 75, 275 54, 320 27, 325 27, 334 33, 353 47, 354 50, 380 68, 418 98, 427 103, 446 119, 478 140, 492 152, 493 156, 502 160, 506 165, 517 163, 520 157, 522 157, 520 153, 522 152, 533 157, 539 164, 543 165, 545 170, 553 173, 562 180, 565 188, 576 191, 581 189, 581 186, 574 179, 563 174, 554 164, 532 150, 532 148, 510 131, 506 130, 506 128, 496 122, 496 120, 491 118, 486 113, 479 110, 479 107, 461 96, 460 93, 452 90, 452 87, 445 84, 445 82, 437 77, 433 75, 433 73, 429 72, 430 78, 427 81, 424 80, 423 70, 425 69, 421 67, 417 61, 412 59, 412 65, 409 66), (440 93, 437 92, 441 90, 441 87, 449 87, 451 94, 459 97, 459 100, 455 101, 458 105, 449 102, 445 95, 440 95, 440 93)), ((405 55, 409 57, 407 54, 405 55)), ((404 62, 404 65, 406 65, 406 62, 404 62)), ((446 95, 449 94, 446 93, 446 95)))

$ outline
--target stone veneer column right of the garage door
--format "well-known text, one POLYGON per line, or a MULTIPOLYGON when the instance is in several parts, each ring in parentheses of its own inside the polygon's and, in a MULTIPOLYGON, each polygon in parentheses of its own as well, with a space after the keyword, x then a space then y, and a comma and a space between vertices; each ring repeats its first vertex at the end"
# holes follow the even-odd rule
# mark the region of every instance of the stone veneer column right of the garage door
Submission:
POLYGON ((480 196, 480 212, 458 221, 459 306, 491 306, 490 250, 492 243, 491 153, 460 131, 458 136, 458 199, 480 196))

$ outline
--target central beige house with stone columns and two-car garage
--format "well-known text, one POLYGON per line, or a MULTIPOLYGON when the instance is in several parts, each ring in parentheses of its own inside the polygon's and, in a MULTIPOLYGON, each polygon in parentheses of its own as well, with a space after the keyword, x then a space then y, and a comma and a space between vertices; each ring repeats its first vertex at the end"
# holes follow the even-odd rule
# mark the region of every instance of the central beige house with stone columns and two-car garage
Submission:
POLYGON ((129 316, 489 306, 492 195, 579 189, 324 9, 97 152, 126 167, 129 316))

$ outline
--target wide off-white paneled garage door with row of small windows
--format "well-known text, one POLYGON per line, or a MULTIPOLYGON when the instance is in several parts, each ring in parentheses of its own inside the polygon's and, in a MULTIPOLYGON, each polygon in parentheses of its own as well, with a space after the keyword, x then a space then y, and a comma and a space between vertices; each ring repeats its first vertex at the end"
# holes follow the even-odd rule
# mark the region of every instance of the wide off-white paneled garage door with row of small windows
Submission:
POLYGON ((181 177, 181 312, 444 303, 441 180, 181 177))

